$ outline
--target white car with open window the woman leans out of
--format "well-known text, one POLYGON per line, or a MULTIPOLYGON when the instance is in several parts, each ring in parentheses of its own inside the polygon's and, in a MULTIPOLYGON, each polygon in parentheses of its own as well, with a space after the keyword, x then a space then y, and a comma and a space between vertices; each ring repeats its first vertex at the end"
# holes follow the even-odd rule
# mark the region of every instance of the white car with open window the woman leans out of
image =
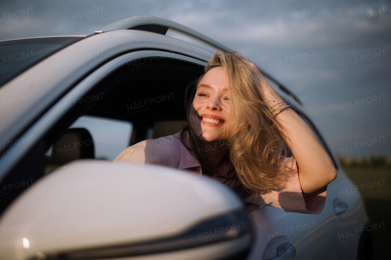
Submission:
POLYGON ((368 259, 359 192, 301 105, 337 169, 321 214, 246 209, 210 178, 111 163, 186 124, 185 86, 216 50, 229 49, 154 16, 0 41, 0 258, 368 259))

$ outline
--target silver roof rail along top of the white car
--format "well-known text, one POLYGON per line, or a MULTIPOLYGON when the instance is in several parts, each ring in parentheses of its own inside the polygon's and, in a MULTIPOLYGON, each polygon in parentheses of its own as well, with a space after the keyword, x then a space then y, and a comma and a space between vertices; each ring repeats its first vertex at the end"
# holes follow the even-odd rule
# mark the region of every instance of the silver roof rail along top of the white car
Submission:
MULTIPOLYGON (((186 34, 187 36, 194 37, 200 41, 203 41, 204 43, 208 43, 209 45, 215 46, 224 52, 231 51, 230 48, 221 45, 220 43, 209 38, 208 36, 205 36, 193 29, 190 29, 174 21, 170 21, 157 16, 137 15, 137 16, 128 16, 128 17, 120 18, 96 30, 94 33, 98 34, 98 33, 108 32, 113 30, 127 30, 127 29, 156 32, 158 34, 163 34, 163 35, 167 33, 168 29, 172 29, 172 30, 179 31, 183 34, 186 34)), ((280 87, 282 91, 289 94, 295 99, 297 98, 295 94, 289 91, 289 89, 287 89, 280 82, 278 82, 273 77, 271 77, 268 73, 265 73, 261 69, 260 71, 263 75, 273 80, 278 85, 278 87, 280 87)), ((299 104, 301 105, 301 103, 299 104)))

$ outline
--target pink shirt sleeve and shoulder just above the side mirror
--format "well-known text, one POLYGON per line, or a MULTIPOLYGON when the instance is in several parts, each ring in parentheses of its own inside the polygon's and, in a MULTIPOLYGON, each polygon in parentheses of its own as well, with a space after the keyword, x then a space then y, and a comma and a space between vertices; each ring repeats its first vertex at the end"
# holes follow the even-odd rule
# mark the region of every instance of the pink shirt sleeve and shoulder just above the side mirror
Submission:
POLYGON ((181 158, 179 140, 174 135, 149 139, 129 146, 114 162, 137 162, 178 168, 181 158))

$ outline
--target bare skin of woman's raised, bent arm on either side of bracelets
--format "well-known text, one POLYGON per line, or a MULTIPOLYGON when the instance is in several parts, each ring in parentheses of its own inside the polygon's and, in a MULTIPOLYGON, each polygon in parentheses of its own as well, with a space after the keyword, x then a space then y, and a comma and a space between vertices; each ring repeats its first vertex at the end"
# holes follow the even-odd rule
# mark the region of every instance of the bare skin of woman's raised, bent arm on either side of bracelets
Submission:
MULTIPOLYGON (((269 102, 269 106, 282 102, 282 98, 258 68, 251 62, 248 64, 258 75, 264 98, 269 102)), ((332 182, 337 177, 334 164, 307 123, 292 109, 283 110, 276 117, 276 121, 279 123, 278 130, 296 158, 301 190, 305 194, 310 194, 332 182)))

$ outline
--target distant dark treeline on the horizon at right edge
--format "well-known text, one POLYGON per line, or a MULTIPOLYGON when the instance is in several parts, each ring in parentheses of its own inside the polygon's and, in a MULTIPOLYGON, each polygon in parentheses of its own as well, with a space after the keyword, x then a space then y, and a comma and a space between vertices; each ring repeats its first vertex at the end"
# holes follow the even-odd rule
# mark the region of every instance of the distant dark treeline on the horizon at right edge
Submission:
POLYGON ((370 156, 369 158, 361 157, 338 157, 342 167, 391 167, 391 157, 370 156))

